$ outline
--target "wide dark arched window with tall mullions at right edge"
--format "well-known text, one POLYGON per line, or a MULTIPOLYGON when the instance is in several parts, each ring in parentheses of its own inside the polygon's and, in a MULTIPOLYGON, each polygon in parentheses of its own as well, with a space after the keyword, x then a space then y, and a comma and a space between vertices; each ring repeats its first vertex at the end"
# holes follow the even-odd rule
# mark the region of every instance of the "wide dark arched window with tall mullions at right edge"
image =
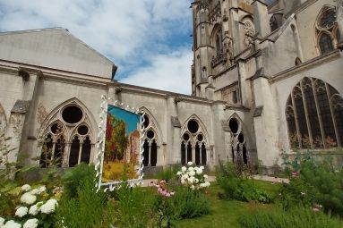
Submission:
POLYGON ((324 81, 304 78, 297 83, 288 97, 286 108, 291 147, 341 146, 342 106, 339 92, 324 81))

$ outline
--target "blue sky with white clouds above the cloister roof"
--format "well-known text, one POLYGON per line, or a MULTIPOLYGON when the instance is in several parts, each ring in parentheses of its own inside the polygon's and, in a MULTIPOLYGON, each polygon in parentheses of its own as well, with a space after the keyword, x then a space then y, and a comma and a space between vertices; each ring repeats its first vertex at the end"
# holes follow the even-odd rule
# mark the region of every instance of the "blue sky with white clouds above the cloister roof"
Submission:
POLYGON ((116 80, 191 94, 191 0, 0 0, 0 31, 68 29, 116 63, 116 80))

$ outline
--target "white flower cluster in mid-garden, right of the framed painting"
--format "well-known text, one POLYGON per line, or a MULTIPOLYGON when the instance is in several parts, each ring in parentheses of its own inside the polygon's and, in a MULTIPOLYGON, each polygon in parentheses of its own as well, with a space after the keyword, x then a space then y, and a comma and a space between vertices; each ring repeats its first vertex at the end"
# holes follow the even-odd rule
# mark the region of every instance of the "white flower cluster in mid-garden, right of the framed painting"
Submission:
POLYGON ((203 173, 203 166, 193 167, 192 162, 188 162, 188 168, 183 166, 181 171, 176 175, 179 177, 180 182, 184 185, 188 185, 192 190, 199 190, 210 186, 210 182, 206 182, 208 175, 203 173))

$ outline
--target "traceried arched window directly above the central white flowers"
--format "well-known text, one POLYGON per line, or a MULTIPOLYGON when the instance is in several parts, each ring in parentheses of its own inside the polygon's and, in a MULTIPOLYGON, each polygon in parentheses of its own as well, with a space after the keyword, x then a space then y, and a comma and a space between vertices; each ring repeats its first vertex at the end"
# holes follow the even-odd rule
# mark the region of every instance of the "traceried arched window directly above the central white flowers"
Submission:
POLYGON ((181 142, 181 164, 193 162, 195 165, 207 164, 204 129, 195 119, 186 122, 181 142))

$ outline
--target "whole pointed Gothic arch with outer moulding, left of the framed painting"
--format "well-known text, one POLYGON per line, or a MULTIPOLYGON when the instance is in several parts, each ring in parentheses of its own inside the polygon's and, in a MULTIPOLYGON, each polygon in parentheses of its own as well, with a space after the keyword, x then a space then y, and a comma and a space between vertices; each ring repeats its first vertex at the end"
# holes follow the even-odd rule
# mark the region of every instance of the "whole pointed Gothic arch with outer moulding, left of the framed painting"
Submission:
POLYGON ((57 158, 58 166, 92 162, 97 128, 93 115, 77 98, 56 106, 42 123, 38 150, 39 164, 48 167, 57 158))

